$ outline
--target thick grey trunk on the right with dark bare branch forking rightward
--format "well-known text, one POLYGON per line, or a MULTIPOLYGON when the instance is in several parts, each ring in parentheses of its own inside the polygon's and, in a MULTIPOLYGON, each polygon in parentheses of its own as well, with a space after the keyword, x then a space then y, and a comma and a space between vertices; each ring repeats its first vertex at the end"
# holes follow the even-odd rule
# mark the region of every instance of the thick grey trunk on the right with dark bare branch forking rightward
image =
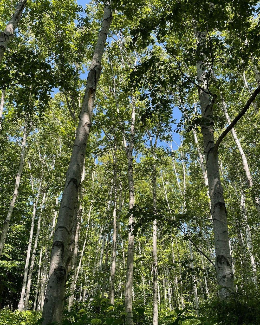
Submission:
MULTIPOLYGON (((195 21, 194 21, 195 22, 195 21)), ((195 22, 196 25, 196 22, 195 22)), ((204 57, 203 49, 206 44, 206 32, 199 32, 195 28, 195 36, 198 43, 198 54, 204 57)), ((213 218, 213 230, 215 240, 215 268, 217 283, 221 286, 220 297, 227 297, 234 290, 234 274, 232 259, 228 245, 227 210, 223 196, 223 188, 219 176, 218 152, 214 150, 214 123, 213 104, 210 102, 207 86, 207 73, 201 59, 196 62, 197 81, 202 121, 201 132, 206 158, 206 171, 209 182, 209 195, 211 200, 211 214, 213 218)))

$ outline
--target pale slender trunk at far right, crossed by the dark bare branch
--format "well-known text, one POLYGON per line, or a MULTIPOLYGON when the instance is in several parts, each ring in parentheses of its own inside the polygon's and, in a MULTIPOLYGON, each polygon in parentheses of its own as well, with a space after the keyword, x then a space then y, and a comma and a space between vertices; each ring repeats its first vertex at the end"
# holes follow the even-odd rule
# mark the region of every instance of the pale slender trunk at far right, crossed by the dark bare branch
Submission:
MULTIPOLYGON (((222 95, 221 95, 221 101, 222 101, 222 108, 223 108, 223 111, 225 113, 227 123, 229 125, 231 123, 231 121, 230 121, 230 118, 229 118, 229 115, 228 115, 228 112, 227 112, 227 106, 226 106, 225 100, 224 100, 222 95)), ((234 139, 234 141, 236 143, 236 146, 237 146, 237 148, 239 150, 239 153, 240 153, 240 156, 241 156, 241 159, 242 159, 243 169, 244 169, 244 172, 245 172, 245 175, 246 175, 246 178, 247 178, 248 185, 249 185, 250 188, 253 188, 254 184, 253 184, 252 176, 251 176, 251 173, 250 173, 250 170, 249 170, 249 167, 248 167, 247 159, 246 159, 246 156, 244 154, 244 150, 242 149, 242 146, 240 144, 240 141, 239 141, 239 139, 237 137, 237 134, 236 134, 236 131, 235 131, 234 128, 231 129, 231 133, 232 133, 233 139, 234 139)), ((258 216, 260 217, 260 202, 259 202, 259 198, 256 195, 255 195, 254 203, 255 203, 255 206, 256 206, 258 216)))

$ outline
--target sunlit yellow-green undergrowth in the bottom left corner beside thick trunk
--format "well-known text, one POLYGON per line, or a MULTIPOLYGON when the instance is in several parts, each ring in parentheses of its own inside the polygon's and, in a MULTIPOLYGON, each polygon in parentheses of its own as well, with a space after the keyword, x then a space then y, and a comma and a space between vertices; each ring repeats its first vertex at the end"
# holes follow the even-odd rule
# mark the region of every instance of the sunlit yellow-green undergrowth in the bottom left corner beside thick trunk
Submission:
POLYGON ((35 325, 41 312, 37 311, 18 311, 12 312, 10 309, 0 309, 1 325, 35 325))

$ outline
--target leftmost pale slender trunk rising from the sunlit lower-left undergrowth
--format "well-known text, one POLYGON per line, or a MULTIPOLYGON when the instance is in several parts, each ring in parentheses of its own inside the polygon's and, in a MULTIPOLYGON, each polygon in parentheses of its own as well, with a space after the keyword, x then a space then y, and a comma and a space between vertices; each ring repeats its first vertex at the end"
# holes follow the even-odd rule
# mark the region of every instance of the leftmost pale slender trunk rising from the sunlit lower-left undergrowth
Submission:
MULTIPOLYGON (((29 162, 29 169, 31 169, 30 162, 29 162)), ((36 210, 37 210, 37 206, 38 206, 40 191, 41 191, 41 187, 42 187, 42 178, 43 178, 43 170, 42 170, 42 175, 41 175, 41 179, 40 179, 40 183, 39 183, 39 187, 38 187, 38 194, 37 194, 36 200, 34 201, 34 199, 33 199, 32 223, 31 223, 31 230, 30 230, 30 235, 29 235, 29 243, 28 243, 26 260, 25 260, 25 268, 24 268, 23 282, 22 282, 22 292, 21 292, 21 297, 20 297, 20 301, 19 301, 19 310, 20 311, 23 310, 23 303, 24 303, 24 296, 25 296, 25 289, 26 289, 26 282, 27 282, 27 275, 28 275, 28 267, 29 267, 31 248, 32 248, 32 236, 33 236, 34 220, 35 220, 36 210)), ((31 186, 32 186, 32 193, 33 193, 32 175, 31 175, 31 186)))

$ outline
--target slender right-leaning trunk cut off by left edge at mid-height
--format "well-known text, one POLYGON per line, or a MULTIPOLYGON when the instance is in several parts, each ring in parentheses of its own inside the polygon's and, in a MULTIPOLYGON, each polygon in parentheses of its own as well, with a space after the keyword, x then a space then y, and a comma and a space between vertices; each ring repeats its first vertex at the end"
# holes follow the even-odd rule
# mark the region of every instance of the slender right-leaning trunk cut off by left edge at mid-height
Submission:
POLYGON ((6 220, 4 221, 4 224, 3 224, 3 231, 2 231, 2 234, 1 234, 1 238, 0 238, 0 258, 1 258, 2 253, 3 253, 3 247, 4 247, 4 244, 6 242, 6 236, 7 236, 9 223, 10 223, 10 220, 11 220, 11 217, 12 217, 15 201, 16 201, 16 198, 17 198, 17 195, 18 195, 18 189, 19 189, 22 170, 23 170, 23 165, 24 165, 26 139, 27 139, 27 136, 28 136, 28 130, 27 130, 28 119, 29 119, 29 117, 26 118, 26 121, 25 121, 25 124, 24 124, 20 164, 19 164, 17 175, 16 175, 14 192, 13 192, 12 199, 10 201, 9 210, 8 210, 8 213, 7 213, 7 216, 6 216, 6 220))

